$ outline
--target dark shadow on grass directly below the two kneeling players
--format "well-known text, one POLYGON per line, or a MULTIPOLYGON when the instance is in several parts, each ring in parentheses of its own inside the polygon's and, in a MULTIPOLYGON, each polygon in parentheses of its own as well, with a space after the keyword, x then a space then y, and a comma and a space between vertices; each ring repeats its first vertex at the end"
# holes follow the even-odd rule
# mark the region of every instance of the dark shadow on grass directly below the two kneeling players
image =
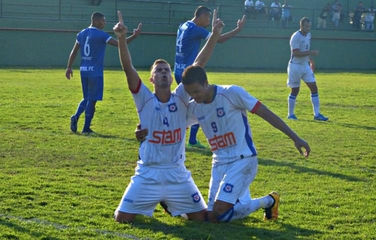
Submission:
MULTIPOLYGON (((297 240, 301 237, 310 238, 320 231, 301 228, 283 222, 263 222, 253 217, 246 217, 233 222, 198 222, 181 219, 178 224, 161 222, 158 218, 139 216, 133 227, 151 230, 155 233, 163 232, 181 239, 289 239, 297 240), (261 222, 261 223, 260 223, 261 222), (246 223, 246 224, 245 224, 246 223), (258 226, 250 226, 255 223, 258 226), (259 227, 260 224, 277 225, 278 230, 259 227)), ((174 220, 175 221, 175 220, 174 220)), ((272 226, 276 228, 275 226, 272 226)))

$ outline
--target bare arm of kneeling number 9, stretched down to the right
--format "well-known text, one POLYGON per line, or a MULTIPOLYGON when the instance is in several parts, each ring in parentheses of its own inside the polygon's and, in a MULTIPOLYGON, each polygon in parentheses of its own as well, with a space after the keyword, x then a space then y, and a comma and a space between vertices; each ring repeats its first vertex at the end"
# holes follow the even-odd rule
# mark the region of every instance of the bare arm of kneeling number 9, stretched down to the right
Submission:
POLYGON ((279 116, 274 114, 274 112, 269 110, 264 104, 261 104, 257 108, 255 114, 262 117, 272 126, 289 136, 294 141, 295 147, 299 150, 300 154, 308 157, 310 152, 308 143, 304 139, 300 138, 293 130, 291 130, 291 128, 279 116), (304 151, 302 148, 304 148, 304 151))

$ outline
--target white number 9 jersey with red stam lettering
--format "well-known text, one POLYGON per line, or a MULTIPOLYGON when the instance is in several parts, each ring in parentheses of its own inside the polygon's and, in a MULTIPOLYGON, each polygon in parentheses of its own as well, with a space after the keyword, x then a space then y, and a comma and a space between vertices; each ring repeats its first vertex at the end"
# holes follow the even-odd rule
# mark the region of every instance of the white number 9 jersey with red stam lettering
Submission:
POLYGON ((213 152, 213 163, 256 155, 247 110, 253 113, 261 102, 240 86, 214 87, 212 102, 189 102, 188 124, 200 123, 213 152))

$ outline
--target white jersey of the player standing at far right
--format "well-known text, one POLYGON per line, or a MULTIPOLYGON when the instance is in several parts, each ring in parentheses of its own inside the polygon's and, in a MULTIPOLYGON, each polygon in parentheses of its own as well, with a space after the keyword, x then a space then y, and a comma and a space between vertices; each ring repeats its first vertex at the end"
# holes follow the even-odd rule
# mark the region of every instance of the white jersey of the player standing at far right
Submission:
POLYGON ((309 47, 311 45, 311 33, 308 32, 306 35, 303 35, 300 30, 294 32, 290 39, 290 47, 291 47, 291 63, 297 64, 308 64, 309 62, 309 55, 307 56, 294 56, 292 53, 293 49, 299 49, 299 51, 309 51, 309 47))

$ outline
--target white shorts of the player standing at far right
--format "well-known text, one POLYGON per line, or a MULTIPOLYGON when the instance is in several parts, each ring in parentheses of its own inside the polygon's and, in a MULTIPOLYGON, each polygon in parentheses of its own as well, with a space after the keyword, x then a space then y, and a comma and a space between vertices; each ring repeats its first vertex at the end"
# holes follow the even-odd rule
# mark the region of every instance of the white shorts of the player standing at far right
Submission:
POLYGON ((287 66, 287 74, 287 86, 289 87, 299 87, 300 79, 304 82, 316 81, 313 71, 308 63, 297 64, 289 62, 287 66))

